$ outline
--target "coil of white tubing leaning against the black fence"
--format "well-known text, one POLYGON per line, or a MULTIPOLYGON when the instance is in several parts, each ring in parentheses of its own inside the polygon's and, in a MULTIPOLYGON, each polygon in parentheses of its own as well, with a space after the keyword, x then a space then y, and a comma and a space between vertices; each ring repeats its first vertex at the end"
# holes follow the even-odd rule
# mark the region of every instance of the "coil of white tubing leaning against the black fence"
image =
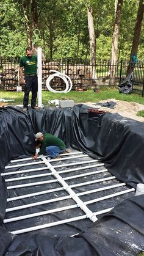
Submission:
POLYGON ((57 70, 49 70, 49 71, 54 72, 54 74, 51 75, 51 76, 49 76, 49 77, 46 79, 46 87, 48 88, 48 90, 50 90, 50 92, 55 92, 55 93, 56 93, 56 92, 59 92, 59 93, 70 92, 70 90, 71 90, 73 84, 72 84, 71 79, 69 78, 69 76, 67 76, 67 75, 65 75, 65 74, 62 74, 62 73, 60 73, 60 72, 57 71, 57 70), (57 76, 58 78, 63 79, 63 81, 64 81, 65 84, 66 84, 65 90, 54 90, 54 89, 51 88, 50 82, 51 82, 51 80, 52 80, 55 76, 57 76), (67 79, 68 79, 68 80, 67 80, 67 79), (70 84, 69 84, 69 82, 70 82, 70 84))

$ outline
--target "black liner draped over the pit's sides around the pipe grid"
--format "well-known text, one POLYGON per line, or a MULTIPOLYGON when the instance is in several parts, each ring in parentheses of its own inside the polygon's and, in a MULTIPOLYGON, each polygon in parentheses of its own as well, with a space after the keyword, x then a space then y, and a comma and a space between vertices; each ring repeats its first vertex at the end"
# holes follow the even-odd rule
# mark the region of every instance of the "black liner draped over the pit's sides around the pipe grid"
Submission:
MULTIPOLYGON (((103 160, 107 169, 128 185, 136 188, 137 183, 144 183, 141 122, 106 113, 99 125, 97 116, 90 118, 88 107, 81 104, 73 109, 29 109, 27 113, 7 107, 0 110, 0 122, 1 172, 10 159, 34 155, 34 134, 41 131, 103 160)), ((49 235, 41 230, 14 236, 2 224, 7 198, 2 177, 0 185, 0 255, 137 255, 144 249, 143 195, 124 200, 76 237, 70 237, 72 225, 66 233, 52 229, 49 235)))

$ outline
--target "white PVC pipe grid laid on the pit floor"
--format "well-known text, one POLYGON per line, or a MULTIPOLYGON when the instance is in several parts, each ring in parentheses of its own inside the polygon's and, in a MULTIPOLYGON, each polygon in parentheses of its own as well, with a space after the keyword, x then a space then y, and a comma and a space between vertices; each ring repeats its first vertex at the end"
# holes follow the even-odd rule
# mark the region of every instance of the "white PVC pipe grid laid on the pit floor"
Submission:
MULTIPOLYGON (((104 167, 103 163, 101 163, 98 160, 92 159, 87 155, 82 154, 82 152, 72 152, 62 154, 61 156, 62 158, 59 160, 48 160, 46 156, 43 155, 40 156, 40 158, 36 161, 31 161, 32 158, 15 159, 10 161, 9 166, 5 166, 5 169, 10 169, 12 171, 1 174, 4 177, 7 176, 7 178, 5 178, 5 182, 8 184, 7 191, 8 194, 10 194, 10 197, 7 198, 8 207, 5 210, 4 224, 8 225, 8 222, 11 223, 11 225, 8 225, 7 227, 13 234, 16 235, 20 233, 31 232, 34 230, 45 229, 48 227, 53 227, 55 225, 79 221, 81 219, 89 219, 90 221, 95 222, 98 219, 96 216, 100 216, 101 214, 109 212, 115 205, 117 205, 117 198, 119 198, 119 196, 135 191, 134 188, 128 188, 125 183, 118 181, 115 178, 115 176, 111 175, 108 172, 108 170, 104 167), (78 158, 82 159, 82 161, 80 160, 76 162, 75 160, 78 158), (22 161, 30 162, 19 164, 19 162, 22 161), (72 163, 63 163, 64 161, 72 161, 72 163), (32 166, 36 164, 43 164, 44 167, 35 168, 33 166, 32 169, 23 169, 25 166, 32 166), (81 167, 79 167, 80 164, 82 165, 81 167), (23 170, 13 171, 13 168, 22 168, 23 170), (63 168, 66 169, 63 170, 63 168), (31 174, 31 172, 36 172, 36 174, 29 175, 29 173, 31 174), (40 174, 40 172, 42 172, 42 174, 40 174), (71 175, 71 172, 73 172, 74 175, 71 175), (77 174, 77 172, 82 173, 77 174), (67 175, 66 177, 65 174, 67 175), (16 177, 17 175, 18 177, 16 177), (40 180, 41 178, 46 178, 46 180, 36 182, 32 181, 37 178, 38 180, 40 180), (27 182, 25 183, 24 181, 24 183, 20 184, 21 181, 23 182, 23 180, 27 180, 27 182), (82 182, 79 182, 79 180, 81 180, 82 182), (13 183, 15 184, 13 185, 13 183), (55 187, 51 188, 51 186, 55 187), (27 193, 27 188, 30 187, 32 192, 27 193), (93 189, 91 189, 92 187, 93 189), (112 189, 116 189, 116 192, 113 193, 112 189), (101 191, 103 191, 104 193, 103 196, 99 196, 99 192, 101 191), (60 192, 62 194, 64 192, 64 196, 59 196, 59 194, 57 196, 57 193, 60 192), (40 200, 40 196, 43 195, 46 195, 46 200, 40 200), (90 195, 91 200, 85 200, 85 198, 87 198, 88 195, 90 195), (38 199, 39 197, 40 199, 38 199), (49 199, 49 197, 51 198, 49 199), (82 199, 83 197, 84 199, 82 199), (104 208, 103 201, 109 199, 113 200, 114 197, 116 197, 116 202, 112 202, 112 207, 104 208), (98 202, 103 203, 102 210, 99 210, 99 208, 96 207, 98 202), (49 208, 49 205, 51 205, 51 203, 52 208, 49 208), (13 207, 13 205, 16 206, 13 207), (42 205, 45 205, 46 210, 39 210, 41 209, 40 206, 42 205), (53 205, 56 205, 56 207, 53 208, 53 205), (91 207, 88 208, 88 205, 91 205, 91 207), (78 213, 77 209, 79 209, 78 213), (96 211, 93 211, 93 209, 95 209, 96 211), (74 216, 73 218, 67 218, 67 213, 70 214, 70 211, 73 211, 73 213, 75 213, 76 216, 74 216), (66 218, 60 221, 49 221, 49 219, 52 219, 51 214, 54 213, 62 213, 60 216, 65 216, 66 214, 66 218), (79 216, 77 216, 77 214, 79 216), (46 219, 46 223, 43 224, 43 222, 45 221, 43 221, 43 218, 40 218, 40 216, 50 216, 50 218, 48 219, 48 223, 46 219), (26 219, 31 218, 41 219, 41 225, 25 227, 24 222, 26 222, 26 219), (20 223, 20 221, 22 220, 25 220, 23 224, 20 223), (19 222, 19 227, 21 225, 23 227, 24 225, 24 228, 19 230, 13 230, 16 226, 16 222, 19 222)), ((71 213, 71 216, 73 215, 73 213, 71 213)))

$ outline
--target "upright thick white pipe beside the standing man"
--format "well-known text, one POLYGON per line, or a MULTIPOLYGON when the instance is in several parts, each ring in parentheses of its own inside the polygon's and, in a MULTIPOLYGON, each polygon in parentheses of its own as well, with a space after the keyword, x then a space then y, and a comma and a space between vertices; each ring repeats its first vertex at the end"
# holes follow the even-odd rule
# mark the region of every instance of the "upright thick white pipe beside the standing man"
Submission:
POLYGON ((42 50, 37 49, 37 67, 38 67, 38 107, 42 107, 42 50))

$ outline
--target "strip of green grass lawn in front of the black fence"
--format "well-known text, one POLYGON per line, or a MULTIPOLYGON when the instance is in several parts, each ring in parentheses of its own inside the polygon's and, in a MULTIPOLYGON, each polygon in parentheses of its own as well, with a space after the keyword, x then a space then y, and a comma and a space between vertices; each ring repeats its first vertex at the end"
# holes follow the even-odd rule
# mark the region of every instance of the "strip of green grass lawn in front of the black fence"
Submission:
MULTIPOLYGON (((9 102, 9 104, 23 104, 23 95, 24 92, 5 92, 0 90, 0 98, 5 100, 15 100, 9 102)), ((136 102, 139 104, 144 104, 144 98, 141 95, 135 93, 124 94, 119 93, 118 90, 101 90, 98 92, 93 92, 93 90, 88 90, 84 92, 77 92, 71 90, 68 93, 52 93, 48 90, 42 92, 42 103, 44 106, 48 106, 49 100, 74 100, 74 104, 85 103, 85 102, 94 102, 97 103, 100 100, 107 100, 115 98, 115 100, 123 100, 128 102, 136 102)), ((31 100, 31 93, 29 100, 31 100)), ((140 116, 144 116, 144 111, 140 111, 140 116)))

